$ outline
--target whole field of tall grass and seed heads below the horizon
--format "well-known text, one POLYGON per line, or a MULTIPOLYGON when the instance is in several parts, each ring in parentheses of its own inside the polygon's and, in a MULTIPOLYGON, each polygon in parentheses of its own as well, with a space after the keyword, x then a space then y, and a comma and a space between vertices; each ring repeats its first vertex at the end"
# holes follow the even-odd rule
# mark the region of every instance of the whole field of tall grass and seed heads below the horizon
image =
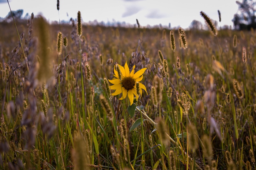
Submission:
POLYGON ((254 30, 79 17, 0 23, 0 169, 256 169, 254 30))

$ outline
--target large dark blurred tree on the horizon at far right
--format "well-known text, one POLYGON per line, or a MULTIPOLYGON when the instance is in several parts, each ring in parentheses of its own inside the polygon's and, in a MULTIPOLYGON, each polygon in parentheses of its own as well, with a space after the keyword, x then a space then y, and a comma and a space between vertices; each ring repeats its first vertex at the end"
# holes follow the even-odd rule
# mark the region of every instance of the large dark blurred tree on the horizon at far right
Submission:
POLYGON ((236 1, 238 13, 234 14, 233 23, 235 29, 255 29, 256 28, 256 1, 242 0, 236 1))

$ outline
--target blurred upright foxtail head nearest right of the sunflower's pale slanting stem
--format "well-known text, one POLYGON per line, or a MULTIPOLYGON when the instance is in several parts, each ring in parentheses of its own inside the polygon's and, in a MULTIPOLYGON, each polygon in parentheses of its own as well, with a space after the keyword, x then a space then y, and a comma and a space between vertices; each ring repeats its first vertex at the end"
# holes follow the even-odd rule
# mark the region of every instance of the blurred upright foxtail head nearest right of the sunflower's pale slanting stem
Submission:
POLYGON ((193 152, 198 147, 198 137, 197 137, 197 130, 193 124, 188 125, 188 140, 189 140, 189 149, 193 152))

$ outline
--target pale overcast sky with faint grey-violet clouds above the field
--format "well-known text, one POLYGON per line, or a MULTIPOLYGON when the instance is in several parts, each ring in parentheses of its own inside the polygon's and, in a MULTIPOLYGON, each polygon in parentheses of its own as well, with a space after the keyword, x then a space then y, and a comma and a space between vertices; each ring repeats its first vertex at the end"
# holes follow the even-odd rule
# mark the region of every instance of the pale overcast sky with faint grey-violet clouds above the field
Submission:
MULTIPOLYGON (((241 0, 240 0, 241 1, 241 0)), ((221 23, 218 26, 231 25, 234 14, 238 11, 236 0, 60 0, 57 11, 57 0, 9 0, 12 11, 23 9, 24 13, 41 14, 49 21, 68 21, 76 18, 80 11, 83 22, 89 21, 120 21, 141 26, 169 25, 171 27, 188 28, 193 20, 204 24, 200 11, 211 19, 219 21, 218 10, 221 12, 221 23)), ((7 0, 0 0, 0 17, 5 17, 10 8, 7 0)))

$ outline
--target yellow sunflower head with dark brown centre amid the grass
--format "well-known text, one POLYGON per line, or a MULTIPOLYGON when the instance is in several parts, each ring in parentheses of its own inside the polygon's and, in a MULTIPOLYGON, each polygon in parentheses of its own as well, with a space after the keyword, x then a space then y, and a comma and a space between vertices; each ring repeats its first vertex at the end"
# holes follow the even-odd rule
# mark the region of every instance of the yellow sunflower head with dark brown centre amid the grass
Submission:
MULTIPOLYGON (((119 64, 118 66, 121 72, 121 80, 119 79, 118 72, 115 66, 114 66, 114 76, 116 77, 116 79, 109 80, 110 83, 114 84, 110 86, 110 88, 112 90, 116 90, 114 93, 112 93, 112 95, 115 96, 123 92, 123 96, 119 100, 125 99, 126 96, 128 95, 128 98, 132 105, 134 95, 136 96, 137 100, 139 98, 139 96, 136 93, 136 82, 139 83, 139 81, 142 80, 143 78, 142 74, 145 72, 145 70, 147 70, 147 68, 142 68, 141 70, 134 73, 135 66, 132 67, 132 71, 130 72, 127 62, 125 62, 124 67, 120 66, 119 64)), ((147 92, 146 87, 142 83, 139 83, 140 94, 142 94, 142 89, 147 92)))

